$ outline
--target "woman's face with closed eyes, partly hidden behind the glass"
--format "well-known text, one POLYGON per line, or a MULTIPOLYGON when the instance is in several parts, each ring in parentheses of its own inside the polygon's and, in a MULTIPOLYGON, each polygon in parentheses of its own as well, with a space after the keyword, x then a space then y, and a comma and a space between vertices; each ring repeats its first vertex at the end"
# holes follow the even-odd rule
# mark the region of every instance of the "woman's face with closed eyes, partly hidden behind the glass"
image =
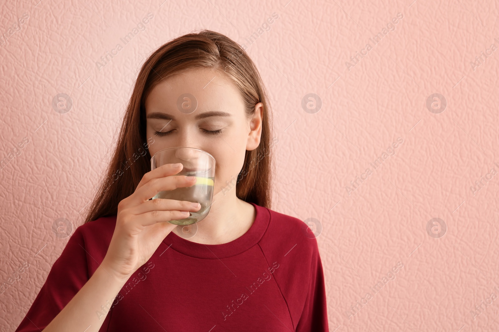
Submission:
MULTIPOLYGON (((149 143, 151 156, 175 146, 204 150, 216 161, 214 195, 225 188, 225 196, 228 188, 235 188, 246 150, 260 143, 262 103, 247 119, 243 98, 229 78, 211 69, 195 69, 156 85, 145 108, 147 139, 154 139, 149 143), (192 97, 184 99, 184 94, 192 97)), ((230 191, 235 195, 235 189, 230 191)))

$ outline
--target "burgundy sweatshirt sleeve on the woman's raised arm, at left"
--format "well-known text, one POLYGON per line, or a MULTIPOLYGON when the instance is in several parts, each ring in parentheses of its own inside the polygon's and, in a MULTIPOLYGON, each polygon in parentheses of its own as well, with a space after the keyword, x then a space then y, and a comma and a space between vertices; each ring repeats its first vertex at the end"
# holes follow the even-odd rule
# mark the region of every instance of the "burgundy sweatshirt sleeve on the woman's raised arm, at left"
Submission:
MULTIPOLYGON (((45 283, 15 332, 42 331, 89 279, 88 249, 85 249, 81 227, 76 228, 52 265, 45 283)), ((100 331, 105 331, 103 328, 109 317, 106 316, 100 331)))

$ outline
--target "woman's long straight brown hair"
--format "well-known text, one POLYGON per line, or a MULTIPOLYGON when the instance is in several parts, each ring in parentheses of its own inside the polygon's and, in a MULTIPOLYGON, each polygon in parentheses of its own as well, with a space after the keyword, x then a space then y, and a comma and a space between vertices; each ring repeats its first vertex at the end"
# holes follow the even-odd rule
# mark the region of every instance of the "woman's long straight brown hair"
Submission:
POLYGON ((151 90, 170 76, 201 68, 223 71, 232 80, 245 101, 247 118, 253 116, 255 104, 263 104, 260 144, 256 149, 246 151, 244 166, 236 181, 236 196, 270 209, 270 150, 276 139, 271 142, 272 121, 266 90, 256 66, 240 45, 218 32, 202 30, 167 42, 142 65, 124 115, 114 155, 84 223, 100 217, 115 216, 118 203, 132 195, 143 175, 151 170, 144 107, 151 90))

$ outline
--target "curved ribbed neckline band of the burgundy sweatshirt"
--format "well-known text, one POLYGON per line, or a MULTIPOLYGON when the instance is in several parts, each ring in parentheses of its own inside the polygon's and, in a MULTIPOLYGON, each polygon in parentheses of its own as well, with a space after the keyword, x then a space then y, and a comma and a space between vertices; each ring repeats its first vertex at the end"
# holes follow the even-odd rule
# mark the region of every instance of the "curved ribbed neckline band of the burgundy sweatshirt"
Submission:
POLYGON ((163 243, 175 251, 195 258, 219 259, 238 255, 258 243, 270 221, 270 212, 267 208, 249 203, 256 210, 255 219, 250 229, 235 240, 222 244, 203 244, 189 241, 171 231, 163 239, 163 243))

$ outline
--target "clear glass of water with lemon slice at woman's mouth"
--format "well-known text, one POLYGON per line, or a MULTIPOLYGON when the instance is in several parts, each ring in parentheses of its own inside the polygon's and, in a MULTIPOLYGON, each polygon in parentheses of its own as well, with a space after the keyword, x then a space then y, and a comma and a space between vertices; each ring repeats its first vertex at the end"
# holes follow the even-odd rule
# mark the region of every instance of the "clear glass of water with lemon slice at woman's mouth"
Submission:
POLYGON ((215 185, 215 158, 208 152, 193 147, 170 147, 156 152, 151 157, 151 170, 164 164, 176 163, 181 163, 184 167, 174 176, 195 176, 196 183, 190 187, 161 191, 152 199, 163 198, 201 204, 199 211, 191 212, 189 217, 170 221, 176 225, 190 225, 202 221, 210 212, 215 185))

